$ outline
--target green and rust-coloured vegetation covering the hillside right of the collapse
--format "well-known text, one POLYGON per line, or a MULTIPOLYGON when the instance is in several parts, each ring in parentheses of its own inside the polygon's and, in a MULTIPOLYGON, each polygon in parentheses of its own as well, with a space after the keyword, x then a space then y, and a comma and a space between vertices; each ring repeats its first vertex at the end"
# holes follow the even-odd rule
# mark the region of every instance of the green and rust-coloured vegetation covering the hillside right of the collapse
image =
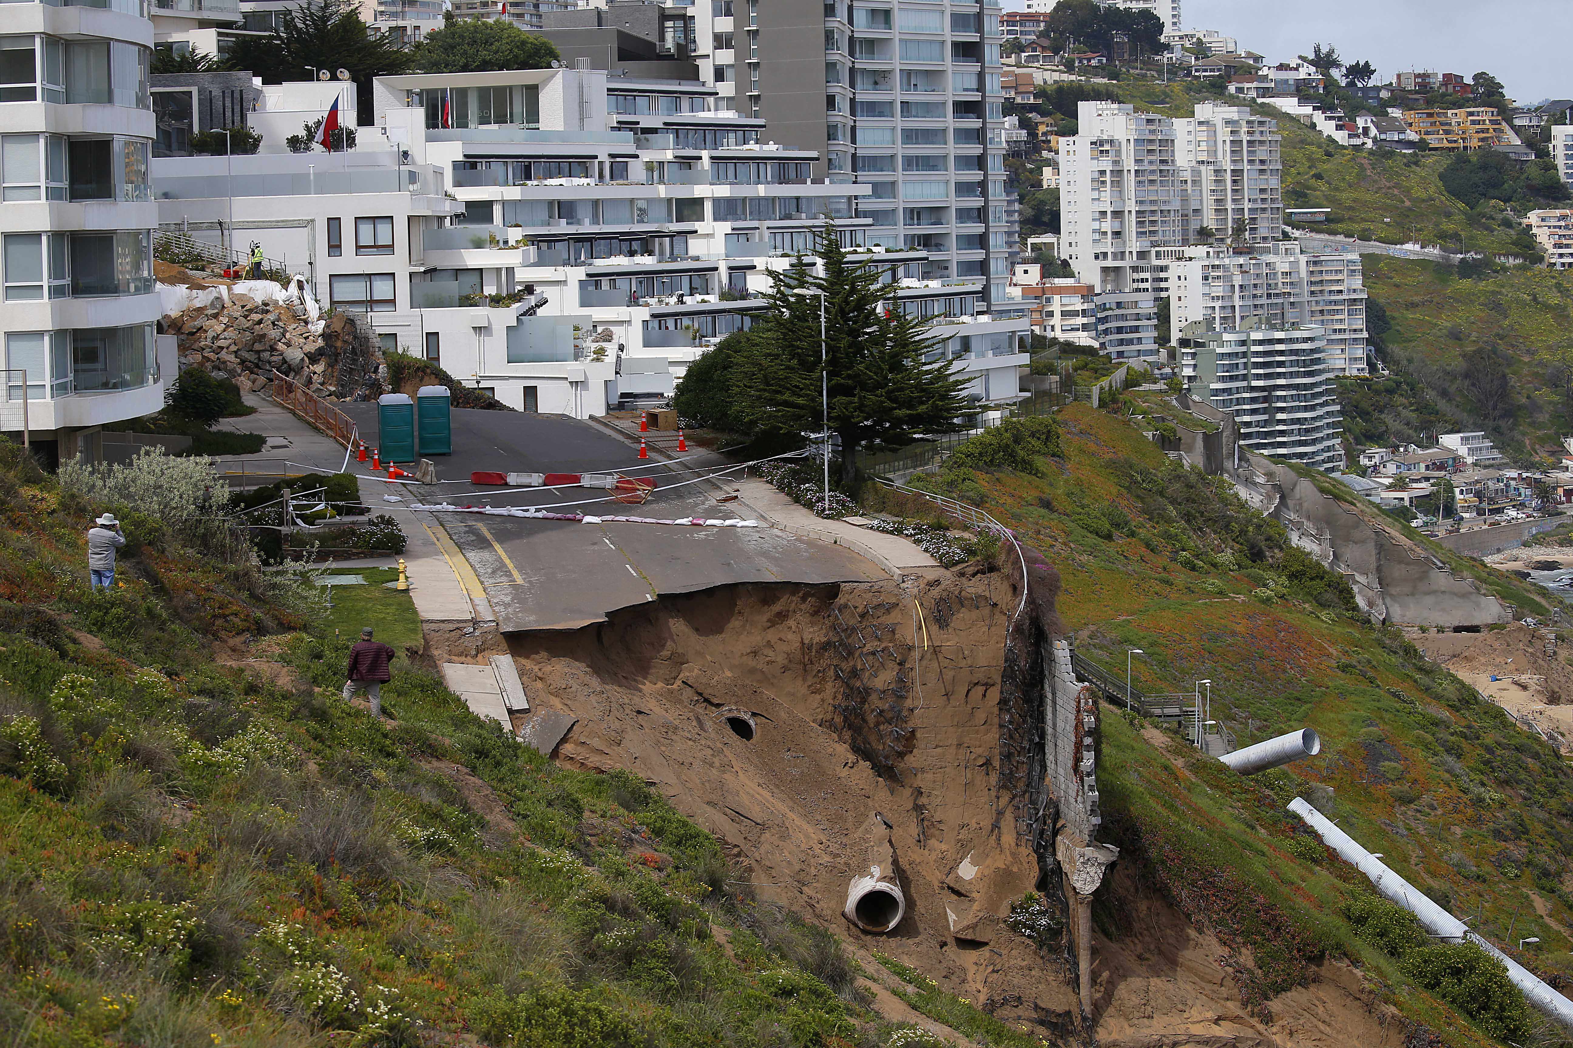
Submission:
MULTIPOLYGON (((1125 407, 1156 410, 1145 396, 1125 407)), ((1373 627, 1342 577, 1227 486, 1169 462, 1111 412, 1076 404, 1054 424, 1048 462, 1016 470, 989 454, 988 468, 936 482, 966 489, 1055 566, 1059 614, 1081 654, 1118 676, 1125 650, 1142 649, 1133 677, 1145 693, 1210 679, 1211 715, 1240 745, 1301 724, 1323 740, 1313 760, 1241 778, 1106 709, 1098 784, 1122 864, 1236 954, 1257 1015, 1345 957, 1424 1028, 1417 1037, 1524 1043, 1529 1013, 1497 966, 1479 951, 1405 949, 1402 929, 1383 930, 1391 921, 1373 927, 1369 881, 1285 806, 1299 795, 1331 812, 1438 903, 1479 914, 1472 927, 1496 944, 1538 936, 1534 954, 1515 957, 1557 979, 1573 974, 1562 932, 1573 918, 1573 768, 1397 628, 1373 627)), ((1365 511, 1329 478, 1301 476, 1365 511)), ((1518 580, 1425 548, 1504 600, 1545 608, 1543 594, 1521 603, 1535 597, 1518 580)), ((1112 938, 1140 933, 1118 896, 1095 902, 1095 921, 1112 938)))

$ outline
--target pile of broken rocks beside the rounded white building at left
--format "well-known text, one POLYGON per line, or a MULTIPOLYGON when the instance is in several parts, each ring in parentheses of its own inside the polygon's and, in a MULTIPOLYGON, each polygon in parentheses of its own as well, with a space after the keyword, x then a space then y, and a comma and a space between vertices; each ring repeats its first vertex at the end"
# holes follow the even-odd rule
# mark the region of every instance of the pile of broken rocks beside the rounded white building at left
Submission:
POLYGON ((160 330, 179 336, 181 369, 234 379, 245 393, 271 394, 275 371, 330 401, 371 399, 387 388, 381 347, 343 313, 311 325, 294 306, 233 294, 228 305, 214 299, 165 316, 160 330))

